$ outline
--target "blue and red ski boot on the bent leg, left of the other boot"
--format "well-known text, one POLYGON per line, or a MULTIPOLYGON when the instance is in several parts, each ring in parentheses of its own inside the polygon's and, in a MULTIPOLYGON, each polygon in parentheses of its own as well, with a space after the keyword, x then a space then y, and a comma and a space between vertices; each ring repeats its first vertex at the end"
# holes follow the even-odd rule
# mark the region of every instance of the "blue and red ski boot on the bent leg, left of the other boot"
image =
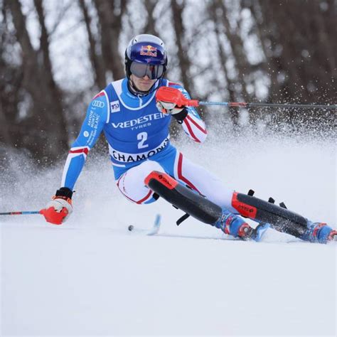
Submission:
POLYGON ((269 228, 269 223, 260 223, 257 228, 252 228, 245 220, 239 216, 230 213, 229 210, 223 208, 220 218, 213 224, 216 228, 220 228, 225 234, 238 237, 241 240, 260 241, 262 235, 269 228))

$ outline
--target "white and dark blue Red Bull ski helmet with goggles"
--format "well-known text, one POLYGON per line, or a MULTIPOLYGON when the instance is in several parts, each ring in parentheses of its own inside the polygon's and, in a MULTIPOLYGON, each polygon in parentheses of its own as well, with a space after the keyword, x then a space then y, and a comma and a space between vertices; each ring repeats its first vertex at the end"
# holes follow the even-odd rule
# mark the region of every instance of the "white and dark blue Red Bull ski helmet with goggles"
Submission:
MULTIPOLYGON (((129 42, 125 50, 125 71, 130 81, 130 75, 137 77, 147 75, 151 80, 161 81, 166 72, 167 55, 164 42, 154 35, 137 35, 129 42)), ((138 94, 147 95, 153 91, 156 84, 149 91, 137 90, 138 94)))

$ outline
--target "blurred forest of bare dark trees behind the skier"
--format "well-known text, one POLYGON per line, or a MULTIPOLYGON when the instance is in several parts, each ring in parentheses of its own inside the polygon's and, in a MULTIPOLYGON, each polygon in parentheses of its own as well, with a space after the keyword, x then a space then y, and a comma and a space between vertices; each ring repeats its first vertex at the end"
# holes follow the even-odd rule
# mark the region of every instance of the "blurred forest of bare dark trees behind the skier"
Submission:
MULTIPOLYGON (((336 14, 336 0, 0 0, 0 165, 17 153, 65 159, 92 97, 124 77, 139 33, 164 40, 166 77, 193 98, 336 104, 336 14)), ((200 114, 232 134, 335 132, 331 109, 200 114)))

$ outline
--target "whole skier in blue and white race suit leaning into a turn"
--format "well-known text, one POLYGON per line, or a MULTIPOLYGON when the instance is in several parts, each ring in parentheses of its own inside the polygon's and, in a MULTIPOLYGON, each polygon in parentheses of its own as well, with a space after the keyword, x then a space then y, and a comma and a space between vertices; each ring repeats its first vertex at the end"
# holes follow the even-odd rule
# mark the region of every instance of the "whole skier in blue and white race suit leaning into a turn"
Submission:
POLYGON ((172 117, 193 141, 203 143, 207 131, 196 109, 183 105, 190 98, 188 92, 164 79, 166 66, 160 38, 148 34, 132 38, 125 51, 127 77, 107 85, 87 109, 65 162, 62 187, 43 210, 48 223, 60 225, 73 212, 75 182, 104 132, 117 187, 134 203, 153 203, 161 196, 186 214, 242 240, 260 240, 269 224, 310 242, 336 237, 337 231, 326 224, 311 223, 285 208, 231 191, 170 143, 172 117), (259 225, 253 229, 239 214, 259 225))

